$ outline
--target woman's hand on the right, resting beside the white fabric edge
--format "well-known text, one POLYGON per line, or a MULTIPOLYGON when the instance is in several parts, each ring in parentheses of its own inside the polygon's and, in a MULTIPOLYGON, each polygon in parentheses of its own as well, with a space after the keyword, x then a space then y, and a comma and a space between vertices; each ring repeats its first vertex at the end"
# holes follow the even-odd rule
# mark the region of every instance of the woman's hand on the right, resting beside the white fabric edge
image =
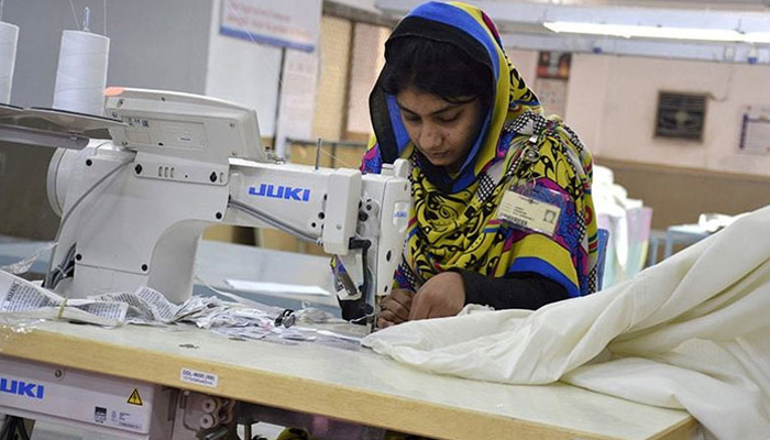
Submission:
POLYGON ((444 272, 428 279, 411 300, 409 320, 458 315, 465 307, 465 287, 457 272, 444 272))

